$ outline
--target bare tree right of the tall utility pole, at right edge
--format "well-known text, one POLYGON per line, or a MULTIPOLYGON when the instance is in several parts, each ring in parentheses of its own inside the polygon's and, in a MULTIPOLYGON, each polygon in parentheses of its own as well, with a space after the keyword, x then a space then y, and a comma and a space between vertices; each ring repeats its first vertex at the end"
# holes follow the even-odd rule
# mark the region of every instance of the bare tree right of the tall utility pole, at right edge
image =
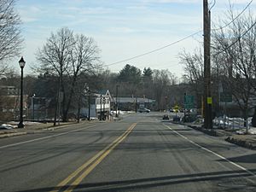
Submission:
MULTIPOLYGON (((230 19, 234 20, 230 9, 230 19)), ((224 20, 224 23, 228 21, 224 20)), ((218 61, 222 61, 225 71, 226 87, 241 108, 244 119, 248 118, 251 107, 250 98, 254 96, 256 19, 252 15, 243 15, 226 28, 214 32, 212 42, 218 61)))

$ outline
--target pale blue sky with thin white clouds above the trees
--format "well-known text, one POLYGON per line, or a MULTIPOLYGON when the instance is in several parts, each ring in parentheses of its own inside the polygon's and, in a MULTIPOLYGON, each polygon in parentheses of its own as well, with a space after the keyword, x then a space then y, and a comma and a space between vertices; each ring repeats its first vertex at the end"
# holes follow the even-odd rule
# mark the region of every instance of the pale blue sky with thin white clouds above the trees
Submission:
MULTIPOLYGON (((212 6, 214 0, 208 2, 212 6)), ((225 17, 229 2, 239 13, 250 0, 216 0, 212 7, 213 25, 225 17)), ((141 70, 168 69, 182 77, 179 53, 193 52, 203 41, 202 3, 203 0, 17 0, 15 9, 20 14, 21 35, 25 39, 21 54, 26 61, 24 73, 32 73, 32 65, 37 65, 35 54, 50 33, 68 27, 74 33, 94 38, 101 49, 104 68, 111 72, 118 73, 130 64, 141 70), (180 41, 195 32, 195 36, 180 41), (168 44, 173 45, 143 55, 168 44), (137 55, 143 56, 125 61, 137 55)), ((250 9, 256 9, 255 2, 250 9)), ((12 62, 18 70, 18 62, 12 62)))

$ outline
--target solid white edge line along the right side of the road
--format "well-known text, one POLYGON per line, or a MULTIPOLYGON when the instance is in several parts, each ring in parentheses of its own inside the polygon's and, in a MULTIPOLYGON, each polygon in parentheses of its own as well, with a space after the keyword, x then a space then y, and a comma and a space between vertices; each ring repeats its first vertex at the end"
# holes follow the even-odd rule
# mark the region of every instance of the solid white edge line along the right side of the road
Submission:
MULTIPOLYGON (((165 124, 164 124, 164 125, 165 125, 165 124)), ((211 153, 211 154, 214 154, 214 155, 218 156, 220 159, 225 160, 225 161, 229 162, 231 165, 238 167, 239 169, 241 169, 242 171, 245 171, 245 172, 249 173, 249 174, 252 175, 253 177, 256 177, 256 175, 255 175, 253 172, 250 172, 249 170, 247 170, 247 168, 245 168, 245 167, 243 167, 243 166, 240 166, 240 165, 234 163, 233 161, 226 159, 224 156, 222 156, 222 155, 220 155, 220 154, 217 154, 217 153, 213 152, 212 150, 210 150, 210 149, 208 149, 208 148, 205 148, 205 147, 202 147, 200 144, 197 144, 197 143, 191 141, 188 137, 184 137, 184 136, 183 136, 182 134, 180 134, 179 132, 173 130, 172 127, 170 127, 170 126, 168 126, 168 125, 165 125, 165 126, 166 126, 168 129, 170 129, 170 130, 172 130, 173 132, 175 132, 178 136, 183 137, 184 139, 186 139, 187 141, 189 141, 189 143, 192 143, 192 144, 194 144, 195 146, 197 146, 197 147, 199 147, 199 148, 201 148, 201 149, 203 149, 203 150, 205 150, 205 151, 207 151, 207 152, 209 152, 209 153, 211 153)))

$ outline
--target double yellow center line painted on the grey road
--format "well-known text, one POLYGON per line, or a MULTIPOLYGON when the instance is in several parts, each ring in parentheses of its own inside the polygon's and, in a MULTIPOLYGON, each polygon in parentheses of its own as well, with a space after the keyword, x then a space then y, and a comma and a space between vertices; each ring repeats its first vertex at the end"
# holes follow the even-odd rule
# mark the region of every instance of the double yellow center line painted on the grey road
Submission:
POLYGON ((99 153, 97 153, 95 156, 93 156, 90 160, 86 161, 82 166, 80 166, 75 172, 70 174, 67 178, 65 178, 61 183, 59 183, 55 189, 53 189, 51 192, 58 192, 63 188, 64 186, 67 186, 67 183, 70 183, 73 179, 73 183, 69 185, 69 187, 65 190, 65 192, 71 192, 79 183, 82 182, 84 177, 88 176, 89 173, 104 160, 104 158, 110 154, 110 152, 115 148, 116 146, 121 143, 125 137, 127 137, 131 131, 134 129, 134 127, 137 125, 137 123, 132 124, 120 137, 115 139, 113 143, 110 143, 106 148, 103 148, 99 153))

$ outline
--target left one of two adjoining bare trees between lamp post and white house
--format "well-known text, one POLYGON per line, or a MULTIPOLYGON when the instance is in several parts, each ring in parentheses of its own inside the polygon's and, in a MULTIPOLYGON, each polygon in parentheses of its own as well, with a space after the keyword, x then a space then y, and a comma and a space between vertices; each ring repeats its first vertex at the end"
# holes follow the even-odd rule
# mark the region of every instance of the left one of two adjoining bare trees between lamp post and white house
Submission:
MULTIPOLYGON (((42 73, 55 74, 59 78, 59 89, 56 95, 60 99, 60 93, 62 93, 62 113, 66 111, 66 86, 64 84, 64 77, 67 75, 68 67, 71 65, 71 52, 74 44, 73 32, 68 28, 61 28, 56 34, 51 33, 44 47, 38 49, 37 53, 37 59, 40 62, 38 70, 42 73)), ((58 99, 57 102, 60 102, 58 99)), ((57 108, 58 105, 56 105, 55 119, 57 108)))

